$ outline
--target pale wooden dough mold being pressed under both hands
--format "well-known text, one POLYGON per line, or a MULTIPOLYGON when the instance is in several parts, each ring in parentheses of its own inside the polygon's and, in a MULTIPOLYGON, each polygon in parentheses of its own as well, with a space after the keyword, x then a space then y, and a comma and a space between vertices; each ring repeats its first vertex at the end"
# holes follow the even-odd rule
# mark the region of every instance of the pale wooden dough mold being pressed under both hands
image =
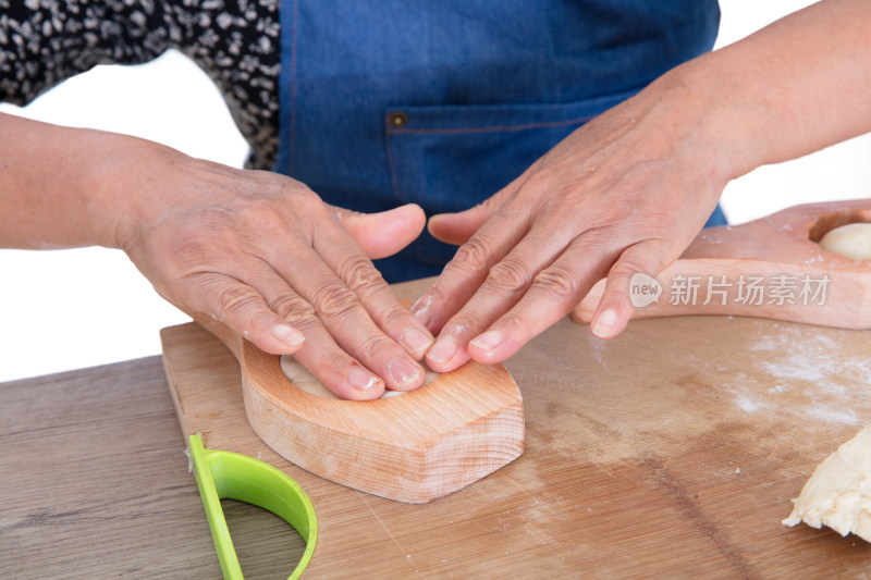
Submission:
MULTIPOLYGON (((330 481, 420 504, 463 489, 523 453, 520 392, 502 365, 469 361, 401 397, 328 399, 294 386, 280 357, 212 317, 191 316, 238 361, 245 414, 255 433, 289 461, 330 481)), ((161 332, 164 344, 173 332, 161 332)), ((185 393, 208 398, 211 360, 196 351, 191 359, 164 347, 170 387, 177 391, 173 369, 199 363, 206 372, 188 374, 185 393), (200 394, 194 393, 197 377, 200 394)))

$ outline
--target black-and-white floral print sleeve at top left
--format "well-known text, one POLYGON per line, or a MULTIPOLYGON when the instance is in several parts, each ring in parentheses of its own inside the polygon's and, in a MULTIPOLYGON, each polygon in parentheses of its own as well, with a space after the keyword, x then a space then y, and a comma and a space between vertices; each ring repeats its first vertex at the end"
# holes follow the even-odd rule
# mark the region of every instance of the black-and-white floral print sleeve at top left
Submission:
POLYGON ((24 106, 97 64, 138 64, 175 48, 214 81, 272 166, 278 143, 279 0, 0 0, 0 101, 24 106))

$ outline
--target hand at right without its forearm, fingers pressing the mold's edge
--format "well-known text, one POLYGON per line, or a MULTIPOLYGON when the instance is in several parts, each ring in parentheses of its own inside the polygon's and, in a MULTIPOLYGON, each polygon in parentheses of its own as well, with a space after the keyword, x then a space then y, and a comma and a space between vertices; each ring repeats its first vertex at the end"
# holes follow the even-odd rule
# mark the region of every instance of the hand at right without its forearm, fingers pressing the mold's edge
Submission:
POLYGON ((430 368, 508 358, 604 276, 592 332, 624 329, 633 274, 657 275, 682 254, 729 176, 687 91, 661 79, 576 129, 483 203, 430 220, 433 236, 462 244, 413 309, 440 332, 430 368))

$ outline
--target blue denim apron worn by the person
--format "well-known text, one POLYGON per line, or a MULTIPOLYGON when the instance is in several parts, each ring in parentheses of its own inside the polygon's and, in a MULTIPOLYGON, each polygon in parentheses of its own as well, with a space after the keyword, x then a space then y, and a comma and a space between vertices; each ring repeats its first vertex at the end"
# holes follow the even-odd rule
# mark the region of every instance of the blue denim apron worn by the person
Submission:
MULTIPOLYGON (((283 0, 274 170, 357 211, 467 209, 719 21, 716 0, 283 0)), ((377 266, 434 275, 455 249, 425 232, 377 266)))

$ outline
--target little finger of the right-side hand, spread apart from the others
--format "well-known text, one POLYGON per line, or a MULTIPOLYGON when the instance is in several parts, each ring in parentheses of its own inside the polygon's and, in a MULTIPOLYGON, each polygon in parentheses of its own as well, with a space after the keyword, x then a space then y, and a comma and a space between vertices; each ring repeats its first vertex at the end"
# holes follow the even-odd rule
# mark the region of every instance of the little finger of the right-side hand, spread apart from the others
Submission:
POLYGON ((599 338, 613 338, 626 328, 635 311, 629 298, 631 279, 643 273, 651 277, 674 261, 673 248, 662 240, 648 239, 627 248, 608 273, 608 282, 599 306, 590 321, 590 330, 599 338))

